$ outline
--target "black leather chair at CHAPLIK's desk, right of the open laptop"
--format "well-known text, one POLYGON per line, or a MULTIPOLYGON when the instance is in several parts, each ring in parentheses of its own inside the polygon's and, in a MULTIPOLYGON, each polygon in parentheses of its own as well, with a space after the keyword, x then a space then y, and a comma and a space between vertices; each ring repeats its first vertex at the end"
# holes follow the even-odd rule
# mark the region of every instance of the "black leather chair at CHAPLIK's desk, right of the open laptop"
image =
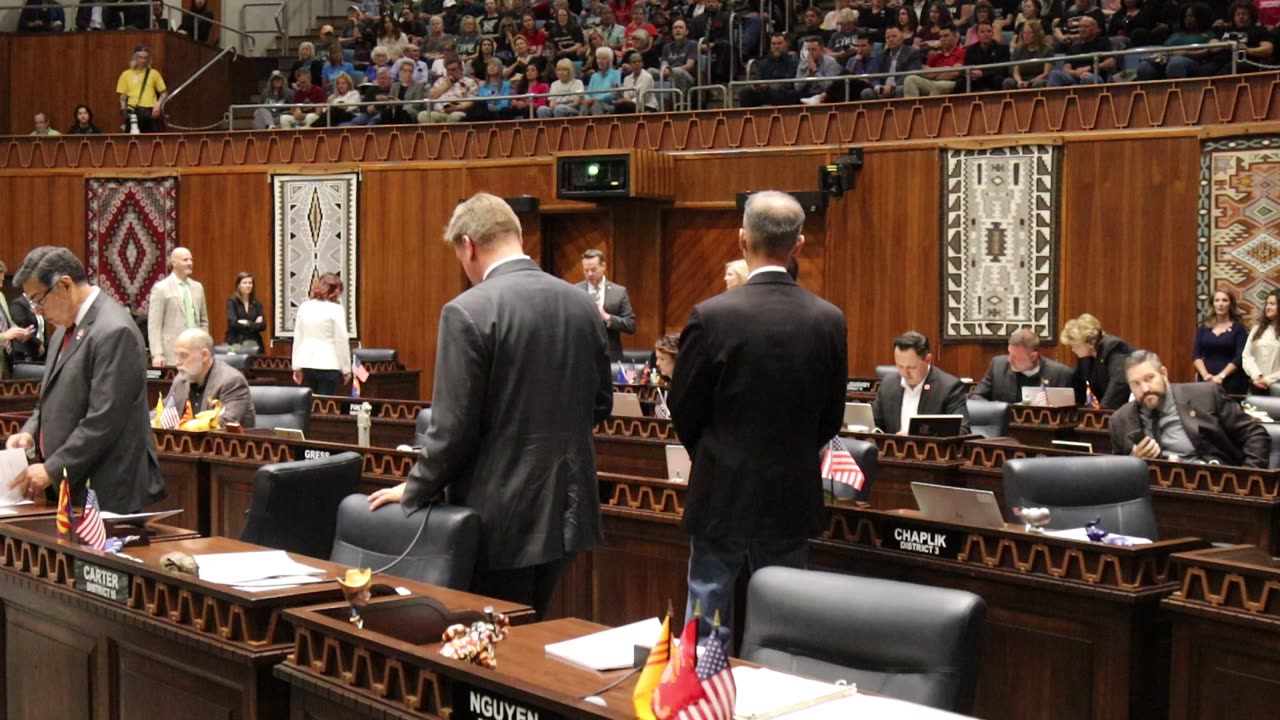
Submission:
POLYGON ((1004 466, 1005 507, 1048 507, 1048 528, 1101 520, 1112 533, 1158 539, 1147 462, 1129 455, 1020 457, 1004 466))

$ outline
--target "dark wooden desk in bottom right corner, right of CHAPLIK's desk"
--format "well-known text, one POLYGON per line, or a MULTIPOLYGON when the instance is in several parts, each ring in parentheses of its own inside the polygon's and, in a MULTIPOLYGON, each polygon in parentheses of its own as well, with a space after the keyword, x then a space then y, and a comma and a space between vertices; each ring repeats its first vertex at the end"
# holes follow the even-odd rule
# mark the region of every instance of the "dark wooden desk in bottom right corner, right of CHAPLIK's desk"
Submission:
POLYGON ((1253 546, 1174 556, 1171 720, 1280 714, 1280 559, 1253 546))

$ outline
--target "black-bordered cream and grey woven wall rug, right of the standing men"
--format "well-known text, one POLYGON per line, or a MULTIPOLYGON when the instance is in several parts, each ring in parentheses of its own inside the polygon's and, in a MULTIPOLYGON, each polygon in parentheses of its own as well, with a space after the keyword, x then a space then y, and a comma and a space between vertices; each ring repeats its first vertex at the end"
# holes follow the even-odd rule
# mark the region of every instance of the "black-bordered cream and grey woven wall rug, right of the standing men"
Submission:
POLYGON ((1052 146, 945 151, 943 342, 1057 337, 1057 163, 1052 146))

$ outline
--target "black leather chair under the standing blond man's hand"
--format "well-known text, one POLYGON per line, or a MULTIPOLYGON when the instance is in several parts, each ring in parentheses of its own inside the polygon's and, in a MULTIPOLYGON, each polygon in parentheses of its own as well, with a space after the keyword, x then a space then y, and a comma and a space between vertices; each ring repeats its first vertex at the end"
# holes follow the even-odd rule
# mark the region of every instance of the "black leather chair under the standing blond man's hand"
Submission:
POLYGON ((479 547, 480 514, 470 507, 434 505, 430 512, 422 509, 406 518, 399 505, 371 511, 369 496, 352 495, 338 506, 338 534, 329 560, 376 570, 408 548, 387 573, 465 591, 471 587, 479 547))

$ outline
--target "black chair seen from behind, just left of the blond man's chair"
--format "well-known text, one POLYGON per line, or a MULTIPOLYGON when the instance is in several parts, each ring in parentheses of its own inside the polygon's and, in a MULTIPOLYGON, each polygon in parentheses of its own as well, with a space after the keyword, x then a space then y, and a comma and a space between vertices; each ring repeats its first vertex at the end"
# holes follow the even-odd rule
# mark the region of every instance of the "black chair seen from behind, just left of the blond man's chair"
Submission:
POLYGON ((253 475, 253 500, 241 539, 329 557, 338 505, 356 492, 364 465, 358 452, 262 465, 253 475))

